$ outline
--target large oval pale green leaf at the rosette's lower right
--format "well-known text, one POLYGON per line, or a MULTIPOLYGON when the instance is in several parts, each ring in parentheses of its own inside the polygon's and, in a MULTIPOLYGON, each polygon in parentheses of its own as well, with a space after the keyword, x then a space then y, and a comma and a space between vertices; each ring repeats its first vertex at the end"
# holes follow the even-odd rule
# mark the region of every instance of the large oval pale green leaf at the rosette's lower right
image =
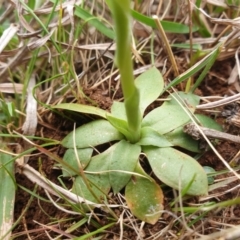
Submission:
POLYGON ((155 175, 166 185, 189 195, 206 195, 208 180, 202 166, 192 157, 174 149, 144 147, 144 152, 155 175))

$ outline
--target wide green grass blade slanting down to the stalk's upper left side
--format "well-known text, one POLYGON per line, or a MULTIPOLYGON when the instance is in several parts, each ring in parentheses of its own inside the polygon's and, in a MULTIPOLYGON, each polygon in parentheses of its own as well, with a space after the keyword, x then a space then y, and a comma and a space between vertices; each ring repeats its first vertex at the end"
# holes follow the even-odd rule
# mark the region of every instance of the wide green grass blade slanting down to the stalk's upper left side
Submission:
POLYGON ((98 17, 91 15, 89 12, 81 8, 80 6, 75 5, 74 14, 79 18, 87 21, 89 24, 94 26, 99 32, 104 34, 105 36, 114 39, 115 33, 112 29, 108 28, 105 24, 103 24, 98 17))

